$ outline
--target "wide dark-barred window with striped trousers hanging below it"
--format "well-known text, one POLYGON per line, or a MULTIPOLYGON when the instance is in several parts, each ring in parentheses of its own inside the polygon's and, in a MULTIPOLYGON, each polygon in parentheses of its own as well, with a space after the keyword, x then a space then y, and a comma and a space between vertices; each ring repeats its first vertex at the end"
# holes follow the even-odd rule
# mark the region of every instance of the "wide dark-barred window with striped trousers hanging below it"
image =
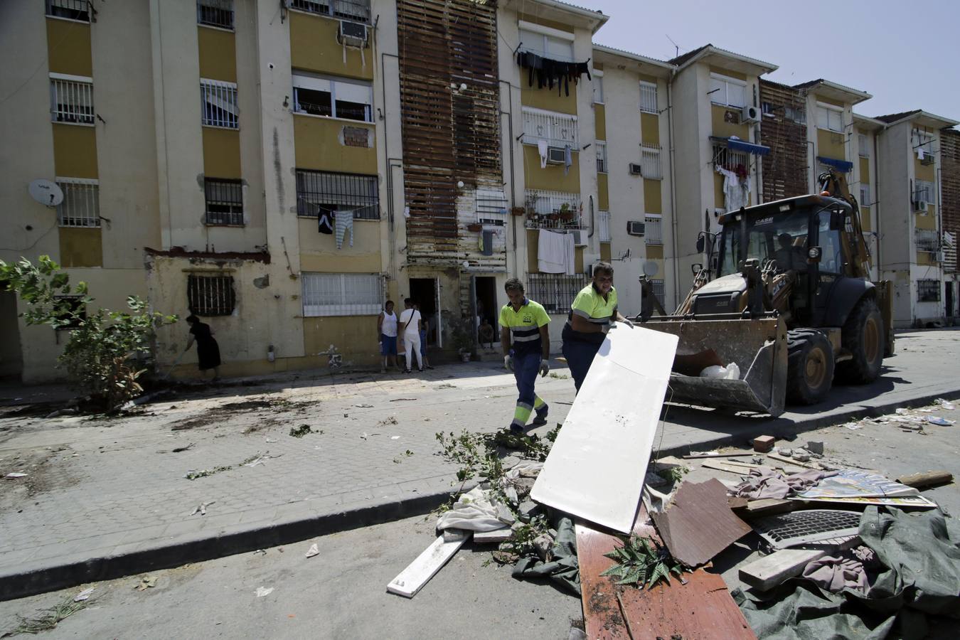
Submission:
POLYGON ((297 215, 317 218, 330 211, 349 211, 353 218, 378 220, 380 199, 376 176, 297 170, 297 215))

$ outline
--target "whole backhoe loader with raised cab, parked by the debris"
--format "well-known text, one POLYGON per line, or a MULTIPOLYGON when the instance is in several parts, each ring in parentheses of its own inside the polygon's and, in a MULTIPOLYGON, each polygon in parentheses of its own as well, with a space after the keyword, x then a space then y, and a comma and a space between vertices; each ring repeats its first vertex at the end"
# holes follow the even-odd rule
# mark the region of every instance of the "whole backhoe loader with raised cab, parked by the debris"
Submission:
POLYGON ((892 285, 869 279, 845 178, 830 171, 818 183, 817 195, 721 215, 719 233, 700 234, 707 265, 693 265, 676 311, 655 315, 645 305, 637 315, 680 338, 667 399, 776 416, 786 402, 821 401, 834 379, 876 380, 894 350, 892 285), (705 371, 731 364, 726 378, 705 371))

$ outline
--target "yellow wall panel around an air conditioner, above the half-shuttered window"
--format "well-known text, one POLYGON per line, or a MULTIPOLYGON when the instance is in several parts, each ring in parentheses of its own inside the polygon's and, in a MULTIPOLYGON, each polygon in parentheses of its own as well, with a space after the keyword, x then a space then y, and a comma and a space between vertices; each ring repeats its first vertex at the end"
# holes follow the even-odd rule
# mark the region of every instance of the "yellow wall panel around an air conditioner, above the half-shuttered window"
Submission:
POLYGON ((347 48, 347 62, 344 63, 344 47, 337 42, 340 29, 338 20, 300 12, 289 12, 289 19, 290 58, 295 68, 372 80, 373 54, 370 48, 364 51, 366 65, 359 49, 350 47, 347 48))

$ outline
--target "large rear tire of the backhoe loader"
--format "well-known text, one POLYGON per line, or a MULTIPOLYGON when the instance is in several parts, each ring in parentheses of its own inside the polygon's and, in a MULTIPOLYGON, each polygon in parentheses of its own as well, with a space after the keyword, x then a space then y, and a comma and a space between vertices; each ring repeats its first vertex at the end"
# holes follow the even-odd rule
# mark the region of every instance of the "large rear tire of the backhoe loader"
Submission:
POLYGON ((860 300, 840 332, 840 344, 853 358, 837 365, 837 380, 866 385, 880 375, 886 344, 883 317, 871 298, 860 300))

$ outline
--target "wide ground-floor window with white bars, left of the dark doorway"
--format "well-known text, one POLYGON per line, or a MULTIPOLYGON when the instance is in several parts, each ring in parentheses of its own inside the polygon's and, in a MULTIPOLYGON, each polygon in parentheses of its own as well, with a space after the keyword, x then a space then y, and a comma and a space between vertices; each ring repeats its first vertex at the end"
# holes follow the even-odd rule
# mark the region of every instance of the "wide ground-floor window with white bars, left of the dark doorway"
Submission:
POLYGON ((375 316, 383 306, 378 273, 300 273, 303 316, 375 316))

